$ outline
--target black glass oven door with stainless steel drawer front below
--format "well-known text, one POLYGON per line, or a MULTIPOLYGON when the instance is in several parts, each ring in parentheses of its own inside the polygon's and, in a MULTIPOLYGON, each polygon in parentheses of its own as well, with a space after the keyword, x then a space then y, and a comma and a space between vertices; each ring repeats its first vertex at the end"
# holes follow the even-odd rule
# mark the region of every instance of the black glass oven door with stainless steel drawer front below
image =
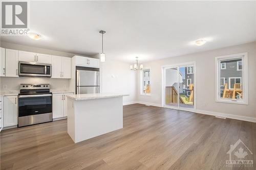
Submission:
POLYGON ((52 122, 52 94, 19 95, 18 127, 52 122))

